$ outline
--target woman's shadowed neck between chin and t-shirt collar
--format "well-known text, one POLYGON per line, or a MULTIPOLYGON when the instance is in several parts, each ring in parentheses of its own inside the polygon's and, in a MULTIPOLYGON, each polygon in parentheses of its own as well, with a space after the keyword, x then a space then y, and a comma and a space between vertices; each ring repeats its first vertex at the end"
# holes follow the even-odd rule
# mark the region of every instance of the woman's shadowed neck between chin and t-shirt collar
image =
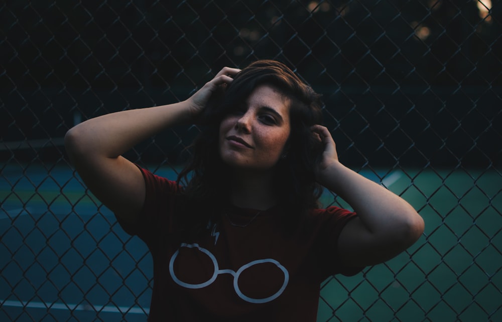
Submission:
POLYGON ((241 208, 266 210, 277 204, 272 184, 272 172, 237 172, 231 181, 232 204, 241 208))

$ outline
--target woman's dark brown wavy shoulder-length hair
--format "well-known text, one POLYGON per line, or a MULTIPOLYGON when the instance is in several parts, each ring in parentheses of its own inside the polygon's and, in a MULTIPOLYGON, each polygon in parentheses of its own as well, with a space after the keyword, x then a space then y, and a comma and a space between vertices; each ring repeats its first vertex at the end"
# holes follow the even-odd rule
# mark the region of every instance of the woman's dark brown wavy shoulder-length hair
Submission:
POLYGON ((218 153, 219 125, 256 87, 264 84, 276 88, 290 101, 287 157, 278 161, 274 171, 274 190, 278 191, 284 210, 284 227, 291 231, 310 209, 318 207, 322 190, 315 180, 314 168, 322 146, 310 127, 322 123, 320 95, 283 63, 260 60, 240 71, 226 89, 214 93, 200 117, 201 132, 189 147, 191 159, 177 180, 184 186, 181 204, 185 211, 180 211, 183 215, 178 218, 184 230, 200 231, 208 219, 217 219, 228 204, 230 172, 218 153))

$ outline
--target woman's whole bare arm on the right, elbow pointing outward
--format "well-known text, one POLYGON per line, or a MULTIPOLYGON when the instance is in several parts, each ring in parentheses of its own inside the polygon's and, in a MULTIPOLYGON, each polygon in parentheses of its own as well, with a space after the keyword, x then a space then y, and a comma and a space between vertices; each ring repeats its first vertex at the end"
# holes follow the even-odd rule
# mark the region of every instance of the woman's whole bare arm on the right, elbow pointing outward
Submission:
POLYGON ((357 218, 343 228, 338 251, 347 266, 384 262, 410 247, 424 231, 424 221, 404 199, 341 164, 328 129, 316 125, 325 144, 318 182, 350 204, 357 218))

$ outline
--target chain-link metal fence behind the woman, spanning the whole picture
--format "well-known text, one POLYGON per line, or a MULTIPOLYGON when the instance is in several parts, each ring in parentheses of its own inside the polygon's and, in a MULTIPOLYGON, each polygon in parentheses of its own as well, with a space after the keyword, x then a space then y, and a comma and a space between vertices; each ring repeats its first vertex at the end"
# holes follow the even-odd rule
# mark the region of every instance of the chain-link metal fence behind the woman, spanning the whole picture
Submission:
MULTIPOLYGON (((263 58, 323 94, 340 159, 426 222, 406 253, 326 280, 318 320, 502 320, 498 0, 7 0, 0 26, 0 320, 145 320, 151 257, 62 137, 263 58)), ((196 132, 128 157, 173 177, 196 132)))

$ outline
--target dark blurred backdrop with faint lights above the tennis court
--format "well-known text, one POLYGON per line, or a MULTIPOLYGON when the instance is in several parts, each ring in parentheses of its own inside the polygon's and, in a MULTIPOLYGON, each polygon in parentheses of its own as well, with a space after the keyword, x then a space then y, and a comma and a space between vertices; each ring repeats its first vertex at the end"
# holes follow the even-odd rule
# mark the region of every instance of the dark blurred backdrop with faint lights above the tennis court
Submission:
MULTIPOLYGON (((499 1, 6 1, 0 157, 54 161, 74 124, 186 99, 223 66, 277 59, 323 94, 340 157, 500 166, 499 1)), ((178 164, 196 128, 133 159, 178 164)))

